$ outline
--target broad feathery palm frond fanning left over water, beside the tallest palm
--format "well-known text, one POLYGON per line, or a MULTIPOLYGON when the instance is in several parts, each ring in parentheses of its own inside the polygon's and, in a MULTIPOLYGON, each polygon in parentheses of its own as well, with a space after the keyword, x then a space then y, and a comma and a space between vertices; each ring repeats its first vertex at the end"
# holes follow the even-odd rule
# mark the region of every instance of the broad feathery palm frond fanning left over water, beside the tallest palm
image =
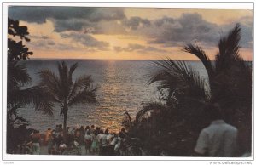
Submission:
POLYGON ((162 69, 159 74, 149 80, 150 83, 160 82, 161 88, 173 88, 184 90, 191 97, 205 98, 205 81, 190 65, 184 61, 174 61, 171 59, 154 62, 162 69))

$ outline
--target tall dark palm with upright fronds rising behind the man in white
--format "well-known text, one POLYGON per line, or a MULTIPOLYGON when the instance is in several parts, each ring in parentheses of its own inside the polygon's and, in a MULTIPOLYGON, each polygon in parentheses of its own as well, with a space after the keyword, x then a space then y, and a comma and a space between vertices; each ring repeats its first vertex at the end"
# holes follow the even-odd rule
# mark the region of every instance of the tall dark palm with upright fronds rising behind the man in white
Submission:
MULTIPOLYGON (((208 73, 211 101, 218 102, 224 109, 247 107, 244 111, 251 114, 252 105, 252 68, 239 54, 241 27, 239 24, 223 36, 218 43, 218 54, 215 65, 198 45, 188 44, 183 47, 185 52, 195 54, 208 73)), ((233 112, 230 111, 230 114, 233 112)))

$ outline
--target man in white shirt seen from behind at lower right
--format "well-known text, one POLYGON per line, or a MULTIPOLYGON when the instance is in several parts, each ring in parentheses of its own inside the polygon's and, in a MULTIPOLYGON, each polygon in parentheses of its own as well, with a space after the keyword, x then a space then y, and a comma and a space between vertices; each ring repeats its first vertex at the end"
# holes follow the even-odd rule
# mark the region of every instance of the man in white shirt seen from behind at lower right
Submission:
POLYGON ((237 129, 222 120, 218 106, 207 106, 207 115, 212 123, 201 130, 195 152, 201 156, 236 156, 237 129))

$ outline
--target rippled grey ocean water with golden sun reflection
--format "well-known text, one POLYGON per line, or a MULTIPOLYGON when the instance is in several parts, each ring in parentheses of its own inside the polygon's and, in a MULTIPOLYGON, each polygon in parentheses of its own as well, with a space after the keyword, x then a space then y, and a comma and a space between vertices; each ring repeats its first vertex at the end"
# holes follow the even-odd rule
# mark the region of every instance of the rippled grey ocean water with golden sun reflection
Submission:
MULTIPOLYGON (((24 63, 32 83, 39 81, 38 71, 49 69, 57 72, 57 64, 62 60, 26 60, 24 63)), ((157 101, 159 93, 157 85, 147 85, 148 79, 159 71, 150 60, 65 60, 67 65, 78 62, 78 68, 73 72, 73 80, 81 75, 91 75, 94 85, 100 88, 96 92, 100 105, 75 105, 67 111, 67 126, 77 128, 81 125, 94 124, 100 128, 109 128, 117 132, 121 128, 125 110, 134 117, 143 104, 157 101)), ((199 71, 202 77, 207 72, 201 62, 188 61, 189 65, 199 71)), ((62 124, 60 105, 55 105, 53 116, 34 111, 31 105, 20 109, 19 113, 30 122, 30 128, 44 132, 47 128, 54 128, 62 124)))

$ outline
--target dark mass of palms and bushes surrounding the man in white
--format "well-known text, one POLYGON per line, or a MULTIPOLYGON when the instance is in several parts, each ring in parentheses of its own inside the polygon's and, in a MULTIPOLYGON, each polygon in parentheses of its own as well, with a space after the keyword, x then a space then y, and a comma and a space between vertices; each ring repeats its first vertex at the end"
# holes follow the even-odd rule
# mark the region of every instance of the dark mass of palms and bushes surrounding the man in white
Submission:
POLYGON ((149 155, 191 156, 198 134, 211 122, 207 104, 220 105, 224 120, 238 128, 240 154, 251 151, 252 68, 239 55, 240 33, 236 25, 219 40, 215 62, 198 45, 182 48, 201 60, 208 80, 184 61, 154 62, 160 72, 148 84, 158 82, 165 97, 145 105, 130 124, 131 136, 143 141, 149 155))

